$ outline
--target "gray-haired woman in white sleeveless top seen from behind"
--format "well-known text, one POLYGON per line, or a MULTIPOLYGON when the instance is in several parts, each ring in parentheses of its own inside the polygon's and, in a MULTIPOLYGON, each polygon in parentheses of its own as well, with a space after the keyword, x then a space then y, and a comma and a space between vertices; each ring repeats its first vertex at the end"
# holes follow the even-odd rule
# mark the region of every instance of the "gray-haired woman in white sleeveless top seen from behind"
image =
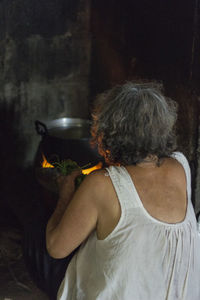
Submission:
POLYGON ((190 169, 175 150, 176 107, 160 86, 127 83, 98 97, 93 142, 108 168, 61 178, 49 254, 79 245, 59 300, 199 300, 200 237, 190 169))

